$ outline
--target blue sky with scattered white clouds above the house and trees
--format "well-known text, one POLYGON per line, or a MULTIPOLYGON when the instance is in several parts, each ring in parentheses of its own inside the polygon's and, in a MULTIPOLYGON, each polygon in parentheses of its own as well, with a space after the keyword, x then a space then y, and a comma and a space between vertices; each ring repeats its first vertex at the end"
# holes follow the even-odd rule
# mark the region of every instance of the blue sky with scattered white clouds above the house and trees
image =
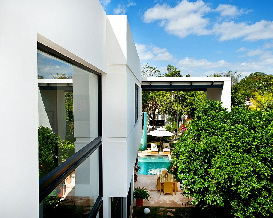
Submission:
POLYGON ((142 65, 191 77, 273 74, 272 0, 100 2, 108 15, 127 15, 142 65))

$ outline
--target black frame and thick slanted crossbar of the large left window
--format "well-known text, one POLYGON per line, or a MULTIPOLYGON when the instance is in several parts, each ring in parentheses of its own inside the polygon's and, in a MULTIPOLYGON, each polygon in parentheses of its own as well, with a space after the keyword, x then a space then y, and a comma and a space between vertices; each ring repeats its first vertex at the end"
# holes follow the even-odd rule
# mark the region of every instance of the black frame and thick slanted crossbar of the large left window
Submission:
POLYGON ((49 54, 53 57, 56 57, 60 60, 63 60, 67 63, 77 66, 83 70, 86 70, 90 73, 94 73, 98 76, 98 137, 93 141, 89 142, 86 146, 72 155, 64 163, 57 166, 47 175, 39 179, 39 203, 52 192, 72 171, 74 171, 86 158, 88 158, 96 149, 99 153, 99 196, 96 199, 96 202, 93 205, 92 210, 90 211, 88 218, 96 217, 99 213, 99 217, 103 217, 102 211, 102 197, 103 197, 103 176, 102 176, 102 84, 101 84, 101 73, 96 72, 89 67, 76 62, 75 60, 57 52, 56 50, 37 42, 37 49, 46 54, 49 54))

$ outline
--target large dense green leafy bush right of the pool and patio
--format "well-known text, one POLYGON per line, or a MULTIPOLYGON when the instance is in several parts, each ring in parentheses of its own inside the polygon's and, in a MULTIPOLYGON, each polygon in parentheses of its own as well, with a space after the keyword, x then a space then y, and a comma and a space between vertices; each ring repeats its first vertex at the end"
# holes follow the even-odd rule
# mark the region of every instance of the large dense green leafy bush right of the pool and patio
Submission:
POLYGON ((172 153, 169 170, 201 208, 273 217, 273 111, 207 101, 172 153))

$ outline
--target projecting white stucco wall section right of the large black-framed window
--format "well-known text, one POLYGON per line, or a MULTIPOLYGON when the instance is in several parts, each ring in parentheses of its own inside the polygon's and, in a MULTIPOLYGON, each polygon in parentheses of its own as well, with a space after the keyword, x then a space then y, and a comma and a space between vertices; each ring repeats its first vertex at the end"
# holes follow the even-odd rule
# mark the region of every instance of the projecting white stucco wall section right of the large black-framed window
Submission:
POLYGON ((107 197, 127 197, 141 140, 141 121, 134 121, 135 84, 141 119, 141 65, 127 17, 107 17, 107 74, 102 75, 103 215, 110 217, 107 197))

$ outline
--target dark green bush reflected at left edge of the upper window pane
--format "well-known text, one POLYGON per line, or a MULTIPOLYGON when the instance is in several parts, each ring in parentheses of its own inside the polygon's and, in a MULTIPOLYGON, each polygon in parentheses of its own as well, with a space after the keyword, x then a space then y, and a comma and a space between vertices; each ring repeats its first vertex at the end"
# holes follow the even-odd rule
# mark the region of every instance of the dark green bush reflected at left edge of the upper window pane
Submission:
POLYGON ((58 166, 58 144, 60 137, 48 127, 38 127, 39 178, 58 166))

